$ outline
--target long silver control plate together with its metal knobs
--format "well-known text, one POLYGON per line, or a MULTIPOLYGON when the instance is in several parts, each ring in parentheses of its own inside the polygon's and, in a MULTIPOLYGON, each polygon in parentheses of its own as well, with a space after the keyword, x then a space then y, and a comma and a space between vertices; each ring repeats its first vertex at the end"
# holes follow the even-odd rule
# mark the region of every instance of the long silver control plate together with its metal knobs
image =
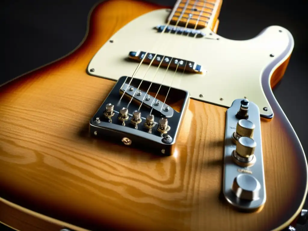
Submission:
MULTIPOLYGON (((250 135, 251 131, 241 134, 250 135)), ((248 212, 260 208, 266 201, 260 111, 255 103, 247 99, 234 100, 226 112, 222 191, 231 205, 248 212), (249 120, 237 119, 238 108, 248 107, 248 103, 249 120), (254 125, 253 139, 243 136, 234 145, 231 137, 238 123, 245 128, 254 125)))

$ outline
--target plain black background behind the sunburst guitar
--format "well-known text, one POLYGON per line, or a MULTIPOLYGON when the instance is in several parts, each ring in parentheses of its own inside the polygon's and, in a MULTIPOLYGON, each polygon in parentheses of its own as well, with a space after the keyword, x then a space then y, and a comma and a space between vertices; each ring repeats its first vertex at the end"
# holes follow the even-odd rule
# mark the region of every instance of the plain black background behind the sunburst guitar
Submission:
MULTIPOLYGON (((97 0, 2 1, 0 85, 58 59, 78 46, 86 33, 88 13, 96 2, 97 0)), ((173 6, 176 1, 148 2, 173 6)), ((279 25, 293 34, 294 51, 284 78, 274 89, 274 95, 293 125, 306 156, 307 10, 308 3, 305 0, 224 0, 217 31, 228 39, 243 40, 256 36, 267 26, 279 25)), ((305 206, 307 207, 307 203, 305 206)))

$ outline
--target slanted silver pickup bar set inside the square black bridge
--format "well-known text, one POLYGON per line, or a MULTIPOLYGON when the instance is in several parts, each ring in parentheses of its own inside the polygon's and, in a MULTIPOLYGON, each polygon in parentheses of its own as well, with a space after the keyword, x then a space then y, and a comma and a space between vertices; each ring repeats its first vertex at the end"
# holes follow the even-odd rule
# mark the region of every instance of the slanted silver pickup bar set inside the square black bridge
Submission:
POLYGON ((120 95, 123 95, 124 91, 125 95, 130 99, 133 98, 135 102, 137 101, 139 104, 143 102, 142 105, 153 108, 153 114, 163 115, 166 118, 172 117, 172 107, 163 102, 160 102, 153 96, 146 94, 146 92, 137 89, 137 87, 129 86, 127 83, 124 83, 123 87, 120 88, 120 95))

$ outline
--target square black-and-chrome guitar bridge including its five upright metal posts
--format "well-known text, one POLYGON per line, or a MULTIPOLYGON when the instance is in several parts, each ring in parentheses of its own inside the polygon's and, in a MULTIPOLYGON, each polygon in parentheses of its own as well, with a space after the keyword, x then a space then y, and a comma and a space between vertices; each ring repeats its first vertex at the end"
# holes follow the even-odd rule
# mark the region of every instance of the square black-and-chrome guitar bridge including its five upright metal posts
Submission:
POLYGON ((132 79, 126 76, 120 77, 107 98, 91 118, 89 132, 93 138, 97 137, 98 139, 108 140, 110 143, 125 145, 125 148, 132 147, 156 155, 164 154, 170 156, 173 154, 173 145, 177 141, 176 137, 180 130, 184 113, 188 107, 189 93, 188 91, 173 87, 170 88, 170 86, 160 85, 159 83, 151 83, 147 80, 143 80, 141 83, 141 81, 141 79, 132 79), (130 83, 132 86, 140 86, 142 95, 136 96, 137 88, 134 87, 133 91, 128 91, 127 89, 123 99, 119 101, 119 92, 124 93, 128 87, 127 83, 130 83), (152 100, 149 101, 144 100, 146 93, 143 90, 147 90, 149 87, 151 87, 151 92, 157 92, 160 89, 161 95, 166 95, 168 91, 169 95, 176 95, 176 98, 180 102, 183 102, 179 105, 181 108, 180 111, 173 110, 169 105, 169 111, 164 111, 164 103, 160 103, 159 106, 153 105, 152 107, 151 104, 154 98, 151 97, 152 100), (128 102, 132 97, 133 100, 127 108, 128 102), (143 102, 142 107, 140 107, 141 102, 143 102), (104 113, 106 114, 107 103, 114 105, 114 117, 118 118, 112 121, 112 123, 110 123, 110 120, 106 116, 103 116, 104 113), (150 116, 149 113, 151 110, 150 116), (96 123, 97 117, 100 118, 99 124, 96 123), (125 122, 123 120, 128 120, 129 123, 126 122, 126 124, 123 124, 125 122), (136 129, 137 123, 140 124, 138 129, 136 129), (160 128, 157 129, 158 127, 160 128), (94 133, 96 135, 93 135, 94 133))

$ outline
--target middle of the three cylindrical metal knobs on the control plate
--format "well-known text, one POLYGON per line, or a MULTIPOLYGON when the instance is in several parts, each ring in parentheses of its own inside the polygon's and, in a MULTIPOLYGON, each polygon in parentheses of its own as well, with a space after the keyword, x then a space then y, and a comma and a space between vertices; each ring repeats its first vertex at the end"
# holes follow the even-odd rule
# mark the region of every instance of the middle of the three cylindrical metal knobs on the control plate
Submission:
POLYGON ((252 138, 246 136, 239 138, 236 149, 232 153, 235 163, 242 167, 253 165, 256 162, 256 158, 253 155, 256 146, 257 143, 252 138))

